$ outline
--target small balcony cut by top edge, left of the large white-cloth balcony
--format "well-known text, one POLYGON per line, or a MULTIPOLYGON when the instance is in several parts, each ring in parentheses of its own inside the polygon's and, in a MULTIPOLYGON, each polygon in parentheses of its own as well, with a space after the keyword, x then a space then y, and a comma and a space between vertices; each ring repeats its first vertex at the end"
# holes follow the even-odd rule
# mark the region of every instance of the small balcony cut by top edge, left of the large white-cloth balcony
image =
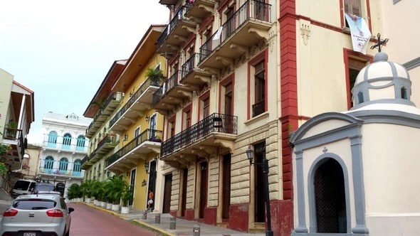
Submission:
POLYGON ((215 0, 190 0, 187 1, 187 11, 185 16, 194 21, 201 23, 201 21, 209 17, 214 11, 215 0))

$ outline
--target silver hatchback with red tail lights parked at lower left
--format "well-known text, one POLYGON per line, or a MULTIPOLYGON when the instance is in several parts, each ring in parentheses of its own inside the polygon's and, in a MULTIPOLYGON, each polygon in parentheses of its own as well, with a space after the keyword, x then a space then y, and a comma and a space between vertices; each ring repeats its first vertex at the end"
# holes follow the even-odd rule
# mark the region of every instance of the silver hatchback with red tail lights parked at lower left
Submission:
POLYGON ((61 195, 21 195, 3 213, 0 235, 68 236, 73 211, 61 195))

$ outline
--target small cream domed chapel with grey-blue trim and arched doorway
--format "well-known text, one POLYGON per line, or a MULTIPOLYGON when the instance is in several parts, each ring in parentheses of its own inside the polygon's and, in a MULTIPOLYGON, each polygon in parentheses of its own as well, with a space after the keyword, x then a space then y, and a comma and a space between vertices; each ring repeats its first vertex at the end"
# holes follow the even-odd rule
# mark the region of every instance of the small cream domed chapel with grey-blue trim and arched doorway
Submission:
POLYGON ((378 53, 352 92, 350 111, 318 114, 290 140, 293 235, 418 235, 420 150, 410 140, 420 138, 420 109, 409 73, 378 53))

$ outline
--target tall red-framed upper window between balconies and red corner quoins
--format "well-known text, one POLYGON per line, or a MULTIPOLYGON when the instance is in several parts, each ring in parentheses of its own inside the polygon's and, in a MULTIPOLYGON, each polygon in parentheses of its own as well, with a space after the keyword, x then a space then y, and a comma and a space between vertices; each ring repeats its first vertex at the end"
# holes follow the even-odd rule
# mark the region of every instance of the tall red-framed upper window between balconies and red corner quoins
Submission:
POLYGON ((252 117, 258 116, 266 111, 266 67, 265 61, 254 66, 254 104, 252 106, 252 117))

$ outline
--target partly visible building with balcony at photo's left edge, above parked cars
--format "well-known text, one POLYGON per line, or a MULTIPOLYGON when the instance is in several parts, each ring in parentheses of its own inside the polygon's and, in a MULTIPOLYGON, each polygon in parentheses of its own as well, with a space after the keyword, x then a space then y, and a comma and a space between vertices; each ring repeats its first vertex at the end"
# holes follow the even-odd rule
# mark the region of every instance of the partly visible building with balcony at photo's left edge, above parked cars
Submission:
POLYGON ((6 194, 23 174, 26 135, 35 120, 33 95, 33 91, 16 82, 13 75, 0 69, 0 144, 9 146, 9 152, 1 157, 9 170, 1 179, 6 194))

